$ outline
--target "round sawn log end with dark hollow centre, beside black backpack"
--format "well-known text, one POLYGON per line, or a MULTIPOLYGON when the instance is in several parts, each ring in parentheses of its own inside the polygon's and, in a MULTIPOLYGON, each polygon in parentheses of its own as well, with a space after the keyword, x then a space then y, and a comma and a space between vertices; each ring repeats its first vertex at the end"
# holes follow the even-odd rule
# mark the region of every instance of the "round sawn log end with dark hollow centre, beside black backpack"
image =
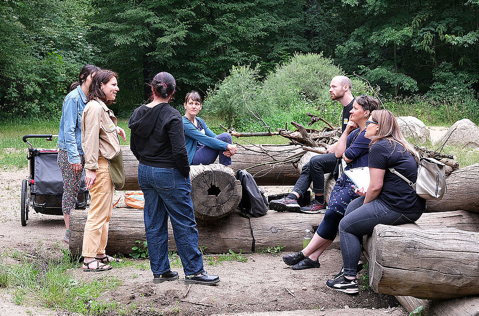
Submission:
POLYGON ((191 199, 195 217, 215 220, 240 204, 241 184, 233 170, 221 164, 191 166, 191 199))

